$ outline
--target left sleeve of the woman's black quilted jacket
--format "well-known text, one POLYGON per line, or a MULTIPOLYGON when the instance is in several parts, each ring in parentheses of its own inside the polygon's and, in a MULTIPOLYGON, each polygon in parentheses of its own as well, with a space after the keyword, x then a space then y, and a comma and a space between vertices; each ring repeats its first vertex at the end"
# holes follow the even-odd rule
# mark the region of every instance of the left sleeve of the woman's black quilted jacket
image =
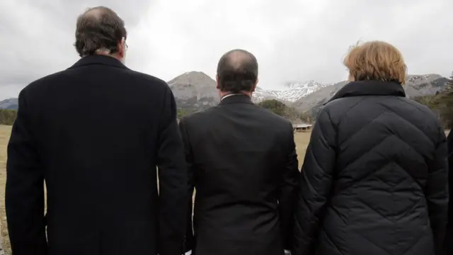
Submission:
POLYGON ((330 196, 336 164, 336 128, 323 108, 311 132, 306 149, 294 212, 293 255, 314 253, 323 209, 330 196))

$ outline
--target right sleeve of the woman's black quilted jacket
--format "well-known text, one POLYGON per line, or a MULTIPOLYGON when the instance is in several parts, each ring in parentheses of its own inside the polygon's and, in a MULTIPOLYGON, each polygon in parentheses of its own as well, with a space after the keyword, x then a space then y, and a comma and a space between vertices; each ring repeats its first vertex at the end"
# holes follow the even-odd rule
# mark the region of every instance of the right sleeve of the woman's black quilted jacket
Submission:
POLYGON ((439 129, 439 139, 432 160, 428 162, 428 183, 425 196, 428 202, 428 213, 435 254, 442 254, 448 213, 448 149, 445 132, 439 129))

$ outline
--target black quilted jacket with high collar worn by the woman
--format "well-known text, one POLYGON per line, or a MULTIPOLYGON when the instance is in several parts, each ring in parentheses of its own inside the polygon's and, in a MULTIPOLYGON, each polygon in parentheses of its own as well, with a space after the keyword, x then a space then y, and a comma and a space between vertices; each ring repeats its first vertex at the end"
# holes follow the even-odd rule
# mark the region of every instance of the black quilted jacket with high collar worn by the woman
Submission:
POLYGON ((400 84, 350 82, 314 125, 292 255, 440 254, 447 165, 444 130, 400 84))

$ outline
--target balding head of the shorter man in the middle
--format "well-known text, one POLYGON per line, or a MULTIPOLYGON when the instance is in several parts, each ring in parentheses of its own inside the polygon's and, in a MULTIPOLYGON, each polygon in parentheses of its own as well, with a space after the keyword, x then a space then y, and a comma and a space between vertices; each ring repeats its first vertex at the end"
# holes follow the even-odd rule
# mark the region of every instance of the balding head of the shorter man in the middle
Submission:
POLYGON ((220 96, 246 94, 251 96, 258 83, 258 62, 246 50, 230 50, 217 64, 217 89, 220 96))

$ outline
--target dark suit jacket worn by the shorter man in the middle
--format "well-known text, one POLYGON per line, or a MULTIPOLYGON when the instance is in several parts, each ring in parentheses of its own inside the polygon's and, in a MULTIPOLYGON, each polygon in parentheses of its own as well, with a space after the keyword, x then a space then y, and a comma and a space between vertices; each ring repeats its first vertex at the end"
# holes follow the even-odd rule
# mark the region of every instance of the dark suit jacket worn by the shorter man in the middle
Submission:
POLYGON ((280 255, 290 249, 299 179, 292 125, 242 95, 179 125, 190 198, 196 188, 195 237, 189 224, 187 248, 196 255, 280 255))

